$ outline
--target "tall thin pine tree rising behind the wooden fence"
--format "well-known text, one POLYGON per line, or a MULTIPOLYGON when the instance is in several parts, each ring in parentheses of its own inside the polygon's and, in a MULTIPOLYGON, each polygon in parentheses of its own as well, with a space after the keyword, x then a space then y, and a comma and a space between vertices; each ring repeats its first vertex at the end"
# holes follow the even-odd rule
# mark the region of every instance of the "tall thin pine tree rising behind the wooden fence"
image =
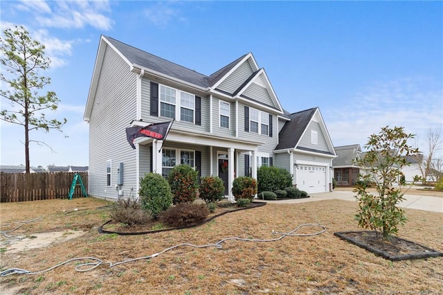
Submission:
MULTIPOLYGON (((24 127, 25 166, 29 173, 29 143, 33 141, 29 132, 38 129, 62 132, 66 118, 62 122, 46 118, 45 111, 57 110, 60 100, 53 91, 40 93, 40 89, 51 82, 50 78, 39 75, 51 64, 44 55, 44 45, 32 39, 23 26, 7 28, 3 35, 0 37, 0 63, 9 75, 0 74, 1 81, 8 85, 8 89, 0 90, 0 96, 10 100, 11 107, 0 111, 0 119, 24 127)), ((46 145, 42 141, 33 142, 46 145)))

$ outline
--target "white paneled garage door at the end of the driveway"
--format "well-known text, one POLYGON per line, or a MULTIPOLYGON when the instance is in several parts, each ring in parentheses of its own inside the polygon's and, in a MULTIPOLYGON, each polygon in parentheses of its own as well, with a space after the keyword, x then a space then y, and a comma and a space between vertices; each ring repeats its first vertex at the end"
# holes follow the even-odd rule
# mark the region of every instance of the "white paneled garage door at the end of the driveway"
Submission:
POLYGON ((326 167, 299 165, 297 188, 307 193, 324 193, 326 191, 326 167))

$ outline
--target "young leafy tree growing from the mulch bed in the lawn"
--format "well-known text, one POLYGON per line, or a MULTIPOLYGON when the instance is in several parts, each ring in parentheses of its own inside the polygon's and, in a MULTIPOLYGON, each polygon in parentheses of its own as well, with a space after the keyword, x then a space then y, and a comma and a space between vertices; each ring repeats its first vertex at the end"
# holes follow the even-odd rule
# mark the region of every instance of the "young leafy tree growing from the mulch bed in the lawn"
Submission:
POLYGON ((404 200, 404 174, 401 169, 408 166, 406 157, 415 156, 419 150, 408 145, 413 134, 406 134, 403 127, 382 127, 379 134, 372 134, 364 146, 368 152, 356 160, 356 164, 367 170, 361 183, 375 184, 377 195, 368 192, 365 185, 357 185, 354 192, 359 200, 359 212, 355 219, 364 229, 370 228, 383 233, 383 240, 397 234, 397 226, 406 222, 404 210, 397 207, 404 200))

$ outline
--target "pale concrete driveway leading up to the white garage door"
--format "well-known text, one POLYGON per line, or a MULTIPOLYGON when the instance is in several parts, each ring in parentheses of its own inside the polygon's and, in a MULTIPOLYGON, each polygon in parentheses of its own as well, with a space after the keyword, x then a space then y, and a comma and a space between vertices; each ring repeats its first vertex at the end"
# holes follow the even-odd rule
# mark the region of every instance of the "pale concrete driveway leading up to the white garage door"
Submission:
MULTIPOLYGON (((305 199, 282 199, 277 201, 265 201, 268 204, 297 204, 305 202, 315 202, 322 201, 325 199, 342 199, 345 201, 356 202, 354 197, 355 193, 348 191, 336 190, 332 193, 315 193, 311 194, 311 197, 305 199)), ((417 209, 424 211, 432 211, 443 213, 443 198, 441 197, 430 197, 421 195, 404 195, 405 200, 399 204, 401 208, 417 209)), ((255 201, 260 202, 262 200, 255 199, 255 201)))

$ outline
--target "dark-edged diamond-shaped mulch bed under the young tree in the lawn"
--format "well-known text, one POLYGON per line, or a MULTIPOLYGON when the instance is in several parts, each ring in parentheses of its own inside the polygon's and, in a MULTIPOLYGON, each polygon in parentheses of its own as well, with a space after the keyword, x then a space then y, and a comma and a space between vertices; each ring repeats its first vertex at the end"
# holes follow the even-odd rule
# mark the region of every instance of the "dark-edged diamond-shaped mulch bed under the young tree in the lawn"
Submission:
POLYGON ((376 231, 343 231, 334 235, 391 261, 443 256, 442 252, 398 237, 383 240, 376 231))

